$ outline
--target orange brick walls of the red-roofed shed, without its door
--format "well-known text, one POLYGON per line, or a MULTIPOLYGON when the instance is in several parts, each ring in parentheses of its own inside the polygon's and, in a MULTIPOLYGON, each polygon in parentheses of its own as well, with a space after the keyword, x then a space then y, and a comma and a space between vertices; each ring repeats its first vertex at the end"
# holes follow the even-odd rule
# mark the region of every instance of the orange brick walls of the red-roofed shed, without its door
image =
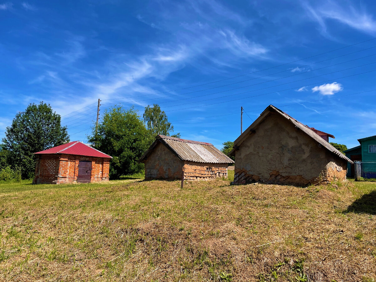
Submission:
POLYGON ((109 180, 109 158, 64 154, 41 154, 36 160, 33 184, 76 183, 79 161, 91 161, 90 182, 109 180))

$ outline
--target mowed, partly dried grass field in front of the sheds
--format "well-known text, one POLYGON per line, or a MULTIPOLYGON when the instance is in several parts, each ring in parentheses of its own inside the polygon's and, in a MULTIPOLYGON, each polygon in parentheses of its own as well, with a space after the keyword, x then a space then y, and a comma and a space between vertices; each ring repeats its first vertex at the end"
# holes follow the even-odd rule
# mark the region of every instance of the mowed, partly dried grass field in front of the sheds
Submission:
POLYGON ((0 184, 0 280, 374 281, 374 182, 141 180, 0 184))

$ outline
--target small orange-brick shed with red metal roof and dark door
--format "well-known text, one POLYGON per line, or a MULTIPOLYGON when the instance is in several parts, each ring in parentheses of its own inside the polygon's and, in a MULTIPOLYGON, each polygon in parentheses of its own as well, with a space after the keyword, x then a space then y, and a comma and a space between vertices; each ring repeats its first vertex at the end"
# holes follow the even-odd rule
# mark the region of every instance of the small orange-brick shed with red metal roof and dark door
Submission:
POLYGON ((89 183, 109 180, 112 158, 80 141, 35 153, 33 184, 89 183))

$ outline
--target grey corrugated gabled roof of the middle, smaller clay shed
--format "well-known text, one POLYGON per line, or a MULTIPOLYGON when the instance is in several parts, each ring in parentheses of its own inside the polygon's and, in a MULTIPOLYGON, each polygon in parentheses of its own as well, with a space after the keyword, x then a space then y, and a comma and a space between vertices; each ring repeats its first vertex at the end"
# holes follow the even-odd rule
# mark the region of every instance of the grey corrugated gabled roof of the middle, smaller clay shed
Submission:
POLYGON ((144 161, 159 143, 164 144, 181 161, 232 164, 234 161, 210 143, 157 135, 150 148, 139 161, 144 161))

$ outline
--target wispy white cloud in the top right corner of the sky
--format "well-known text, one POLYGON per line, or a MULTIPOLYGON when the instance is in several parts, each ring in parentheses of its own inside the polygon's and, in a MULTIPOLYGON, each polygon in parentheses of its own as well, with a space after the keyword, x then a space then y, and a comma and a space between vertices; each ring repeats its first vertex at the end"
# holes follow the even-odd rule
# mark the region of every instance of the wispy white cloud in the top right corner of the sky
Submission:
POLYGON ((301 3, 309 17, 317 21, 324 33, 327 32, 326 20, 336 20, 366 33, 376 32, 376 21, 364 7, 356 7, 347 1, 315 1, 314 6, 307 1, 301 3))

